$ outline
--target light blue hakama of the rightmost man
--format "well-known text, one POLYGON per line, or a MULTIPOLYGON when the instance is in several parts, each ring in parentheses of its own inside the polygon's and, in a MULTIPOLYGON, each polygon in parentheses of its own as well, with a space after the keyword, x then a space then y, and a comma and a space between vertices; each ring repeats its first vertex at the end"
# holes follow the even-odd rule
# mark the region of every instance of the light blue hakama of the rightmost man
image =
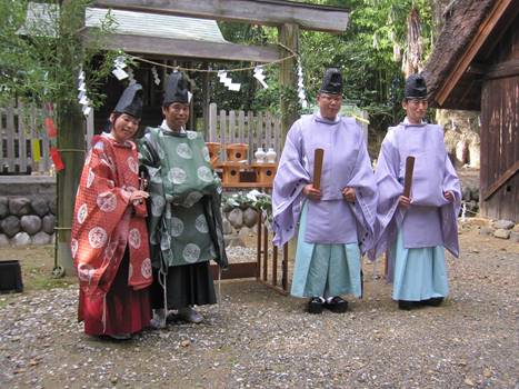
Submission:
POLYGON ((395 258, 395 300, 421 301, 447 297, 449 285, 443 247, 406 249, 400 229, 390 255, 395 258))

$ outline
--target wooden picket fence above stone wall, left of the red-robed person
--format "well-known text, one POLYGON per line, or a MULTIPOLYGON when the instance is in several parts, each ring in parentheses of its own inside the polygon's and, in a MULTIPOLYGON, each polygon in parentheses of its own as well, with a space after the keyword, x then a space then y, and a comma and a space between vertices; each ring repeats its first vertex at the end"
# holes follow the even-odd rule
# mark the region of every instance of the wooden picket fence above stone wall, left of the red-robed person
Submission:
MULTIPOLYGON (((10 104, 0 107, 0 174, 49 174, 50 140, 43 128, 44 110, 10 104)), ((59 129, 58 129, 59 130, 59 129)), ((93 112, 87 119, 87 144, 93 136, 93 112)))

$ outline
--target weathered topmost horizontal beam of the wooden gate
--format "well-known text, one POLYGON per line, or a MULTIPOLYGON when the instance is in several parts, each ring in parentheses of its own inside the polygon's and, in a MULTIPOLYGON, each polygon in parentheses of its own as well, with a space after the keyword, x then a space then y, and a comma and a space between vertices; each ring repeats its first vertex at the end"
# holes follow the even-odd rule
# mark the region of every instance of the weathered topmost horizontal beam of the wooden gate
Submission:
POLYGON ((93 7, 177 14, 251 24, 299 24, 305 30, 342 32, 349 22, 345 8, 281 0, 97 0, 93 7))

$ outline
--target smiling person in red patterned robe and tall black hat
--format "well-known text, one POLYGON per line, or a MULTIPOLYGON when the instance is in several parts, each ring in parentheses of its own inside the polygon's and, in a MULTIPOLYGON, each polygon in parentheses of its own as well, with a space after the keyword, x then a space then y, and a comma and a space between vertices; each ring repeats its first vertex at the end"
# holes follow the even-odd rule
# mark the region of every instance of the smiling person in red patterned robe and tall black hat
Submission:
POLYGON ((92 139, 76 198, 71 252, 84 332, 130 339, 149 326, 152 281, 146 199, 136 144, 142 87, 128 87, 110 116, 110 133, 92 139))

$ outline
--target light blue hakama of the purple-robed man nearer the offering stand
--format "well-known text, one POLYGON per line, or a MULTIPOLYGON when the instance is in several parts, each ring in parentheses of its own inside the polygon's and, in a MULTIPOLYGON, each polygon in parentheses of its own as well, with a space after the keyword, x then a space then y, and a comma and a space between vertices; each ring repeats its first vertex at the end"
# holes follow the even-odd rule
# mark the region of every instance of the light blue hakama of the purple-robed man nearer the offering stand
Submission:
POLYGON ((307 205, 299 223, 298 247, 293 269, 295 297, 335 297, 362 293, 360 250, 358 243, 320 245, 305 241, 307 205))

